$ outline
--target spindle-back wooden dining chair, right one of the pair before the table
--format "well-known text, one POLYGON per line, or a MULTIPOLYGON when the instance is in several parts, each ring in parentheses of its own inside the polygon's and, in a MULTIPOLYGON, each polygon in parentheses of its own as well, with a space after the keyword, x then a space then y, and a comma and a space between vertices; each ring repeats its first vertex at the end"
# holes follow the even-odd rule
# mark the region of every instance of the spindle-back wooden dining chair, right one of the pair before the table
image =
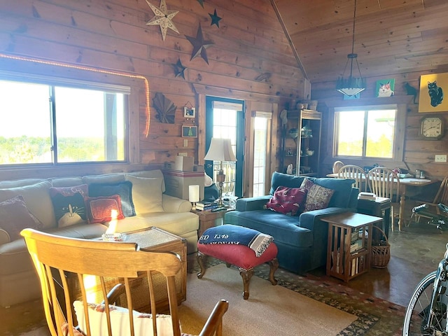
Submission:
MULTIPOLYGON (((394 230, 394 220, 400 217, 400 179, 392 169, 375 167, 366 176, 369 190, 378 197, 391 199, 391 228, 394 230)), ((401 231, 400 221, 398 230, 401 231)))

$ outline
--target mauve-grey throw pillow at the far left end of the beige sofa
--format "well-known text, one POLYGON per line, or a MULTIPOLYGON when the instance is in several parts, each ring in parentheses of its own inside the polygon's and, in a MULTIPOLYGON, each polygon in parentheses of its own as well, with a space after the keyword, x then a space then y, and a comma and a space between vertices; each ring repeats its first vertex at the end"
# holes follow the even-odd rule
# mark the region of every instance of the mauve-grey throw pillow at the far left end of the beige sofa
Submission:
POLYGON ((10 241, 20 238, 25 228, 39 230, 42 223, 31 214, 21 195, 0 202, 0 228, 8 232, 10 241))

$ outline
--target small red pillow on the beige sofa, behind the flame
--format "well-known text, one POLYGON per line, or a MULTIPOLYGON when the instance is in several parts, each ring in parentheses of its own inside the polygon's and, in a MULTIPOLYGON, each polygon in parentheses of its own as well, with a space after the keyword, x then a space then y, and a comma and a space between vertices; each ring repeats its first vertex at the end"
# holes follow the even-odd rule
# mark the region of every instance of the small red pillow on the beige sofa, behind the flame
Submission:
POLYGON ((118 195, 87 197, 85 199, 85 209, 90 224, 125 218, 118 195))

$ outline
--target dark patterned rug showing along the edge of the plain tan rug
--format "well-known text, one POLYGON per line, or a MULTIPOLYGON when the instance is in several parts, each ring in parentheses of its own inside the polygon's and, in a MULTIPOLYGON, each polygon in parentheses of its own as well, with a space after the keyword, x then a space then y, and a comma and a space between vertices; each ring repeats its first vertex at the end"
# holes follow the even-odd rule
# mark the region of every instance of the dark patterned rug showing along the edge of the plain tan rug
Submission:
MULTIPOLYGON (((207 258, 207 267, 218 265, 221 260, 207 258)), ((233 266, 232 266, 233 267, 233 266)), ((199 272, 196 262, 188 265, 188 272, 199 272)), ((269 266, 260 265, 255 268, 255 275, 269 279, 269 266)), ((339 335, 401 335, 405 307, 372 297, 358 290, 353 290, 337 283, 322 281, 316 276, 301 276, 284 269, 277 269, 275 278, 279 286, 294 290, 304 296, 330 305, 349 314, 358 316, 339 335)))

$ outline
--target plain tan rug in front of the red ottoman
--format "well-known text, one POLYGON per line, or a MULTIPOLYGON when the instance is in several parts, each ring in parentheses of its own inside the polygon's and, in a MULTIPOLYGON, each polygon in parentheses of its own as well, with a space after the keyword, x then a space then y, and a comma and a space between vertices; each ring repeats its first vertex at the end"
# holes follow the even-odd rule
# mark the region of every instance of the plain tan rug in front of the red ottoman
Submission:
POLYGON ((338 335, 357 318, 258 276, 251 279, 248 300, 242 292, 239 271, 224 264, 208 268, 202 279, 188 274, 187 300, 179 307, 182 330, 199 335, 222 298, 229 302, 223 335, 338 335))

